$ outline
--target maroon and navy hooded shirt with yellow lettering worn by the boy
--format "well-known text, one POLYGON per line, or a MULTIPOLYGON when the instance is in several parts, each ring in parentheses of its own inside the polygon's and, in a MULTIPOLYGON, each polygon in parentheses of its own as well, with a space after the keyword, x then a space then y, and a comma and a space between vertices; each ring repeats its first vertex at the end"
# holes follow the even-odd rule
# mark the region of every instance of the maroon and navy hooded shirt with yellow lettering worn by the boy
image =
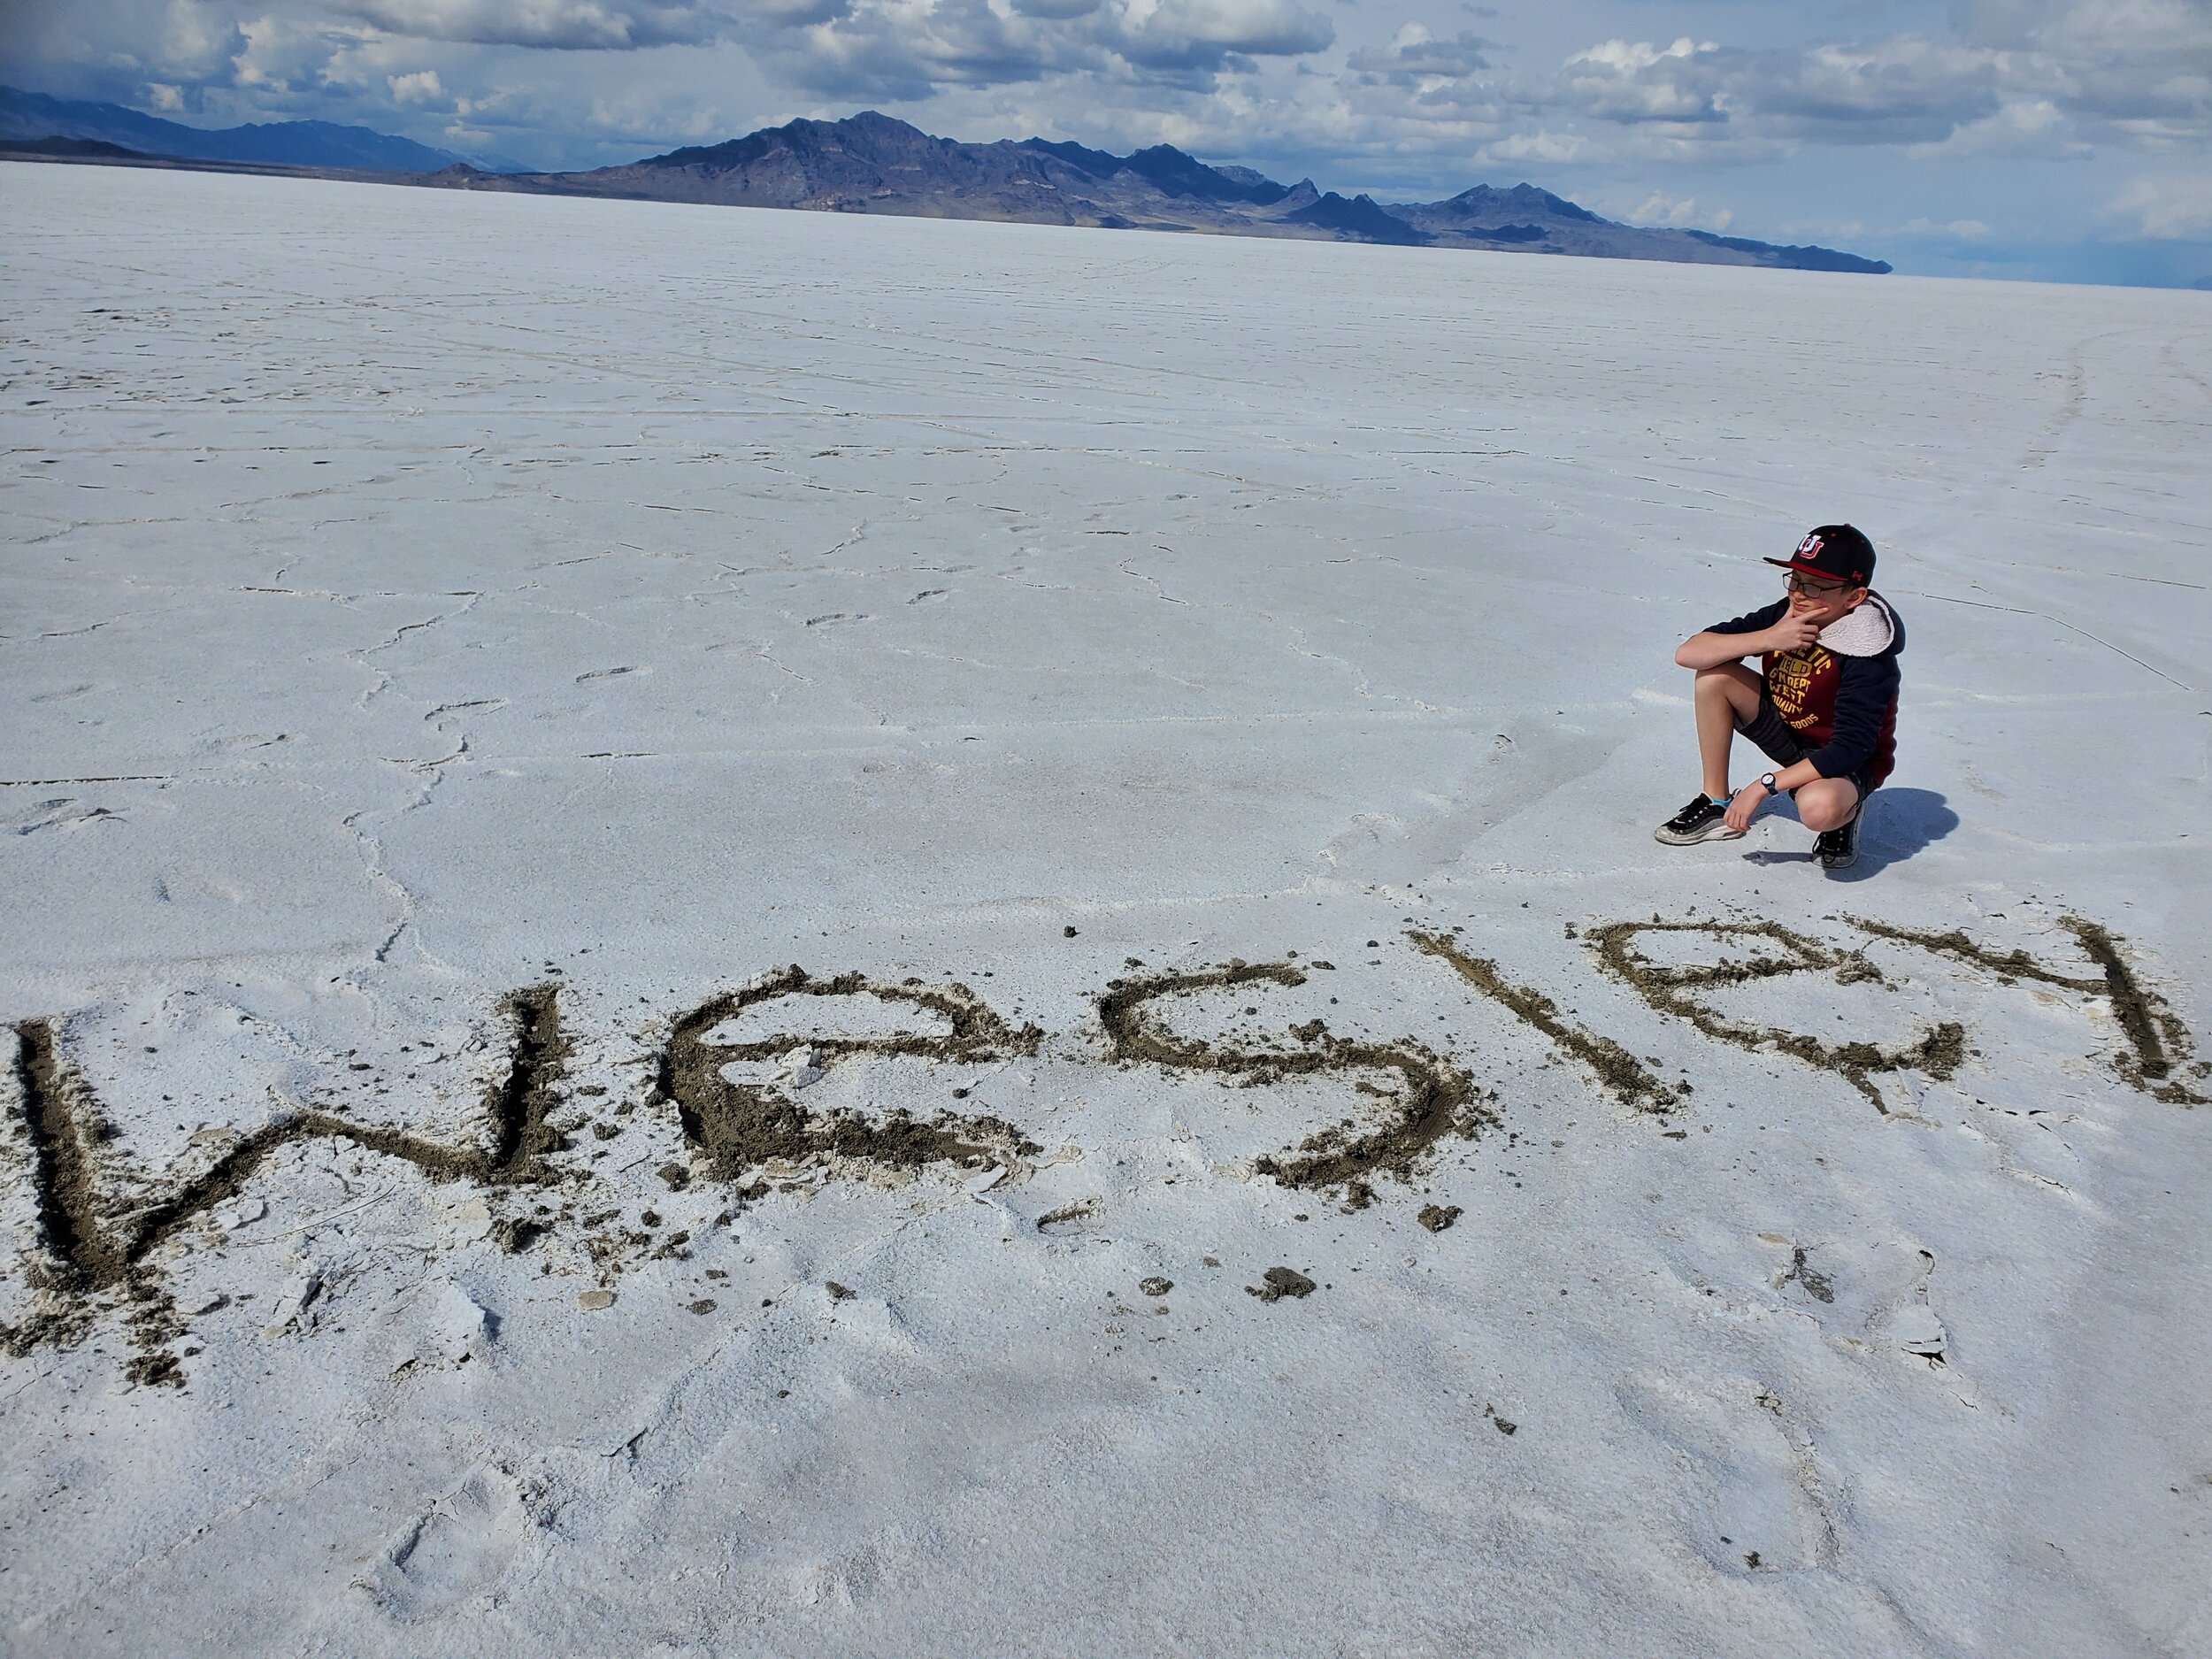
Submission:
MULTIPOLYGON (((1761 633, 1781 622, 1790 599, 1759 606, 1710 633, 1761 633)), ((1865 772, 1880 783, 1898 761, 1898 653, 1905 624, 1889 602, 1867 602, 1820 630, 1803 650, 1770 650, 1759 659, 1765 699, 1809 750, 1825 779, 1865 772)))

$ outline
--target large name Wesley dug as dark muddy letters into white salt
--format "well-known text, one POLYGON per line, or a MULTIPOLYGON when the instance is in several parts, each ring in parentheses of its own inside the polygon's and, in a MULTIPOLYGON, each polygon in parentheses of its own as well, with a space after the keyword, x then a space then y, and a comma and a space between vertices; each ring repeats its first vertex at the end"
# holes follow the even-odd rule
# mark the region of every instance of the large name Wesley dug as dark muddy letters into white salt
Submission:
MULTIPOLYGON (((1953 971, 1964 967, 1997 984, 2026 980, 2084 1002, 2104 1002, 2121 1035, 2108 1057, 2117 1075, 2154 1099, 2203 1104, 2205 1095, 2192 1084, 2201 1084, 2212 1068, 2194 1060, 2188 1026, 2141 982, 2121 940, 2077 916, 2059 925, 2086 958, 2086 971, 2033 958, 2024 949, 2000 951, 1955 929, 1936 933, 1851 918, 1851 927, 1869 940, 1927 953, 1953 964, 1953 971)), ((1416 953, 1449 967, 1458 984, 1542 1035, 1562 1062, 1624 1108, 1659 1117, 1686 1110, 1688 1084, 1666 1084, 1619 1042, 1562 1013, 1553 995, 1506 978, 1498 962, 1473 953, 1460 933, 1462 929, 1413 931, 1407 942, 1416 953)), ((1597 969, 1635 989, 1657 1013, 1686 1022, 1714 1042, 1836 1073, 1878 1110, 1887 1106, 1876 1079, 1918 1073, 1942 1082, 1971 1053, 1969 1031, 1958 1020, 1933 1022, 1913 1040, 1880 1046, 1730 1015, 1714 1000, 1730 987, 1798 975, 1827 975, 1838 987, 1891 984, 1865 947, 1840 949, 1772 920, 1652 918, 1588 927, 1582 938, 1597 969), (1657 960, 1644 940, 1719 947, 1719 960, 1657 960)), ((1440 1141, 1473 1137, 1500 1121, 1495 1091, 1478 1088, 1464 1066, 1411 1037, 1354 1040, 1316 1018, 1292 1024, 1287 1042, 1230 1046, 1179 1035, 1164 1018, 1175 1002, 1208 991, 1265 995, 1305 982, 1307 971, 1294 962, 1241 960, 1201 971, 1117 978, 1095 1002, 1106 1057, 1121 1066, 1210 1073, 1243 1088, 1340 1079, 1352 1110, 1314 1128, 1296 1146, 1252 1159, 1252 1170, 1287 1188, 1334 1192, 1345 1210, 1374 1203, 1378 1183, 1405 1186, 1440 1141)), ((1248 1013, 1256 1013, 1256 1006, 1248 1013)), ((515 991, 502 1011, 513 1033, 509 1064, 484 1095, 484 1128, 473 1141, 438 1141, 363 1124, 327 1106, 301 1104, 252 1130, 217 1137, 212 1152, 186 1159, 186 1168, 166 1177, 137 1168, 122 1146, 97 1091, 66 1053, 69 1022, 20 1022, 13 1033, 15 1124, 9 1146, 29 1164, 31 1237, 22 1267, 33 1307, 18 1323, 0 1325, 0 1347, 20 1356, 40 1345, 69 1345, 102 1312, 113 1310, 122 1314, 135 1347, 128 1374, 139 1383, 181 1380, 177 1358, 168 1352, 179 1318, 164 1265, 175 1252, 192 1248, 195 1221, 204 1221, 250 1183, 272 1179, 279 1155, 303 1141, 347 1141, 365 1155, 411 1166, 434 1183, 469 1183, 509 1208, 522 1194, 606 1181, 553 1121, 555 1108, 568 1099, 571 1060, 557 987, 515 991)), ((869 1172, 902 1177, 947 1164, 1018 1175, 1037 1152, 1020 1124, 962 1110, 925 1119, 907 1110, 876 1117, 854 1108, 816 1108, 803 1091, 856 1057, 978 1064, 1033 1055, 1042 1037, 1033 1024, 1006 1024, 964 984, 891 984, 860 973, 823 978, 801 967, 779 969, 743 989, 712 995, 672 1022, 646 1104, 672 1110, 692 1164, 666 1164, 659 1175, 670 1188, 695 1179, 719 1181, 739 1206, 805 1172, 814 1179, 869 1172), (823 1035, 825 1022, 810 1020, 810 1004, 818 1011, 827 1000, 867 1000, 896 1029, 823 1035), (728 1035, 734 1024, 761 1020, 772 1029, 770 1035, 728 1035), (772 1064, 779 1060, 781 1071, 772 1064), (748 1066, 757 1073, 750 1082, 732 1077, 732 1068, 748 1066)), ((577 1093, 606 1091, 586 1086, 577 1093)), ((635 1104, 617 1110, 633 1108, 635 1104)), ((604 1128, 597 1124, 595 1133, 604 1128)), ((507 1250, 526 1250, 544 1232, 544 1203, 531 1206, 529 1214, 507 1214, 493 1225, 491 1239, 507 1250)))

